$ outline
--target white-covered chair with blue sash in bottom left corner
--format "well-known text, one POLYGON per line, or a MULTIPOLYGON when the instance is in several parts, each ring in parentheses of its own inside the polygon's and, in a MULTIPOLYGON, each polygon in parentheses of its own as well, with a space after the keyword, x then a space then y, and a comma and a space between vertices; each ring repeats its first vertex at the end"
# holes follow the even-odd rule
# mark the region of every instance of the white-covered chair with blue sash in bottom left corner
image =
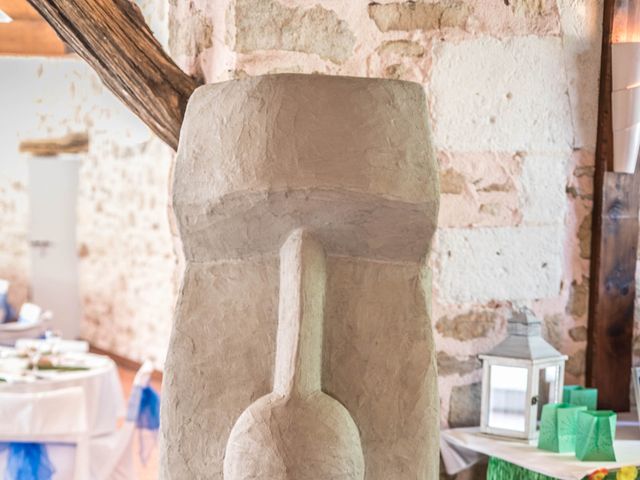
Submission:
MULTIPOLYGON (((0 475, 5 480, 12 448, 39 444, 54 469, 52 480, 86 480, 88 433, 84 391, 80 387, 41 393, 0 392, 0 475)), ((15 450, 14 450, 15 451, 15 450)))

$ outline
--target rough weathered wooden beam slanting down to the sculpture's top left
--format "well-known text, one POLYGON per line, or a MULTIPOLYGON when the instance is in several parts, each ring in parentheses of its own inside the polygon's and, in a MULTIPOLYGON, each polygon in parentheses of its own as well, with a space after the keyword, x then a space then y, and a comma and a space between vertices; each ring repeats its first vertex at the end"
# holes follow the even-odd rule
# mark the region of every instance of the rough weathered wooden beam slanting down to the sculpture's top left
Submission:
POLYGON ((104 84, 174 150, 198 82, 154 38, 129 0, 29 0, 104 84))

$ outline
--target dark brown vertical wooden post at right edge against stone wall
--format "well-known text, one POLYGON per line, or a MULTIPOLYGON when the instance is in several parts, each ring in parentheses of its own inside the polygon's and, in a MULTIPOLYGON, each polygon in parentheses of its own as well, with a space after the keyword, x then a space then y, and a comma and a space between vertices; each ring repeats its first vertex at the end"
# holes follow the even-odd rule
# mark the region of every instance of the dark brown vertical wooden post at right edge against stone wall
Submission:
POLYGON ((587 384, 599 408, 629 410, 638 251, 640 175, 614 173, 611 31, 614 0, 604 2, 598 140, 594 177, 587 384))

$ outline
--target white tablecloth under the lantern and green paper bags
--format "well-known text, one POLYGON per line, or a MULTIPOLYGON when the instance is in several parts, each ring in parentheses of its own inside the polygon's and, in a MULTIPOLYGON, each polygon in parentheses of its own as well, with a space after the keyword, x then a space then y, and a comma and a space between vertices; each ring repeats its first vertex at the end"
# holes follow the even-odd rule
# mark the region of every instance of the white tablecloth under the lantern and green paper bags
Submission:
POLYGON ((447 473, 457 473, 479 460, 497 457, 534 472, 561 480, 581 480, 599 468, 615 470, 640 466, 640 423, 633 414, 619 414, 615 462, 581 462, 572 453, 552 453, 535 445, 490 437, 479 428, 457 428, 441 432, 440 448, 447 473))

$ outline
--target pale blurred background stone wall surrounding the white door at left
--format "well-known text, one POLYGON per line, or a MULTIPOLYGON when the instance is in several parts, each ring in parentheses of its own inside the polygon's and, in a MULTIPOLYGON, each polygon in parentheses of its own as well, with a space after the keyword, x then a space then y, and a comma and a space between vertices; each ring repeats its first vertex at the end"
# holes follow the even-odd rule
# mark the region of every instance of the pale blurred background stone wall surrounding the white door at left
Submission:
MULTIPOLYGON (((140 3, 166 42, 164 2, 140 3)), ((81 334, 162 365, 177 289, 167 217, 173 153, 75 56, 0 58, 0 78, 0 278, 12 282, 11 301, 26 300, 29 285, 27 162, 18 144, 87 131, 78 198, 81 334)))

